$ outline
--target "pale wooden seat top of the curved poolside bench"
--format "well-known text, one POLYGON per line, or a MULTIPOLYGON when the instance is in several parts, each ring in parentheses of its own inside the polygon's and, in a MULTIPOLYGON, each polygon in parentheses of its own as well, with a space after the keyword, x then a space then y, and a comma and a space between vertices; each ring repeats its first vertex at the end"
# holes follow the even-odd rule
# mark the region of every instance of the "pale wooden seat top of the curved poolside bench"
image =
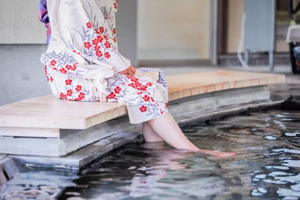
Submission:
MULTIPOLYGON (((151 76, 157 76, 153 73, 151 76)), ((233 88, 283 83, 284 75, 213 71, 167 76, 169 101, 233 88)), ((59 138, 60 129, 84 130, 125 115, 120 103, 36 97, 0 106, 0 136, 59 138)))

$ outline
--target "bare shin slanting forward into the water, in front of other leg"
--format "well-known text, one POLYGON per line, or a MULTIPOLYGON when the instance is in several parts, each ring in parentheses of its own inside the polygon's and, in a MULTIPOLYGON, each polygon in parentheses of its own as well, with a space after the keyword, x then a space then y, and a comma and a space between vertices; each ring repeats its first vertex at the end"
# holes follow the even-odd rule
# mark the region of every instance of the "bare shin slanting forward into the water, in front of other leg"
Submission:
POLYGON ((170 113, 148 121, 149 127, 156 135, 176 149, 199 150, 182 133, 170 113))

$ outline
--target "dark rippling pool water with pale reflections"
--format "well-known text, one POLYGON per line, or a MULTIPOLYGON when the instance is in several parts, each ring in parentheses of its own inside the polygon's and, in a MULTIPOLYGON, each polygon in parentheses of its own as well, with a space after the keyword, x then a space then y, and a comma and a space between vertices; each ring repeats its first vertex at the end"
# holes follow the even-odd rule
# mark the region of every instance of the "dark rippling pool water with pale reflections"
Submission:
MULTIPOLYGON (((268 111, 191 124, 197 147, 228 158, 132 143, 80 175, 27 169, 1 189, 2 199, 300 199, 300 114, 268 111)), ((0 198, 0 199, 1 199, 0 198)))

